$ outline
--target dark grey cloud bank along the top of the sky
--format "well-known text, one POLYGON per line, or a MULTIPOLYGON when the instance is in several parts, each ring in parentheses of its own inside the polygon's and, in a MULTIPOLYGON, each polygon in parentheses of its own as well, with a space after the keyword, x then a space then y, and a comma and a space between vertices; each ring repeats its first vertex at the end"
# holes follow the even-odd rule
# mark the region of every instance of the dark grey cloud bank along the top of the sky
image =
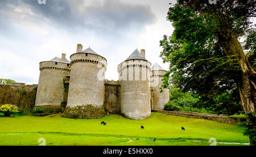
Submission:
MULTIPOLYGON (((124 3, 117 0, 86 1, 47 0, 46 5, 39 5, 37 0, 0 1, 1 10, 10 11, 8 5, 26 4, 37 16, 35 23, 48 23, 53 27, 67 31, 86 29, 101 35, 121 33, 135 29, 140 31, 144 25, 155 22, 155 15, 149 6, 124 3), (3 9, 3 7, 5 7, 3 9)), ((6 16, 6 15, 5 15, 6 16)), ((5 17, 1 17, 5 18, 5 17)), ((2 27, 7 24, 0 20, 2 27)), ((9 26, 6 26, 9 27, 9 26)))

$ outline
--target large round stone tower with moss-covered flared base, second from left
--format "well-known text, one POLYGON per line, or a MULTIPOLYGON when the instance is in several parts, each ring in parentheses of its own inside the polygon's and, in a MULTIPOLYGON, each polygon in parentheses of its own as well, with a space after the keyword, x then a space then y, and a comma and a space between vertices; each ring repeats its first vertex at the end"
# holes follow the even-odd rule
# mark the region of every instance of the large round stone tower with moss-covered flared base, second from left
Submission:
POLYGON ((71 55, 68 103, 63 114, 69 118, 100 118, 104 116, 104 79, 107 61, 91 48, 71 55))

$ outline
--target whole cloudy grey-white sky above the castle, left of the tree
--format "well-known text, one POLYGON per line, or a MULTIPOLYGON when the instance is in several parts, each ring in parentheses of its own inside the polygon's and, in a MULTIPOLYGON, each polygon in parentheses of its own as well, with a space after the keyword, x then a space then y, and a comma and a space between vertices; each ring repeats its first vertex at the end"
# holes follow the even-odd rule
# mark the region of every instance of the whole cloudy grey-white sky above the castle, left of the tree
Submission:
POLYGON ((117 65, 135 49, 158 62, 159 40, 171 35, 166 20, 174 0, 0 0, 0 78, 37 84, 39 62, 90 46, 108 60, 106 79, 117 80, 117 65))

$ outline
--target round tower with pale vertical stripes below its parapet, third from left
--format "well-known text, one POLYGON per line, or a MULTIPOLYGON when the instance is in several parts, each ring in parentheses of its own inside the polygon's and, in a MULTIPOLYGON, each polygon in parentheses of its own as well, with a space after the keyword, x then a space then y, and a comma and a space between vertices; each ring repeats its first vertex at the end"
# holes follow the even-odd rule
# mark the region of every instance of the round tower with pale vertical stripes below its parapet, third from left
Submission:
POLYGON ((133 120, 150 117, 150 67, 142 53, 136 49, 118 65, 121 83, 121 114, 133 120))

